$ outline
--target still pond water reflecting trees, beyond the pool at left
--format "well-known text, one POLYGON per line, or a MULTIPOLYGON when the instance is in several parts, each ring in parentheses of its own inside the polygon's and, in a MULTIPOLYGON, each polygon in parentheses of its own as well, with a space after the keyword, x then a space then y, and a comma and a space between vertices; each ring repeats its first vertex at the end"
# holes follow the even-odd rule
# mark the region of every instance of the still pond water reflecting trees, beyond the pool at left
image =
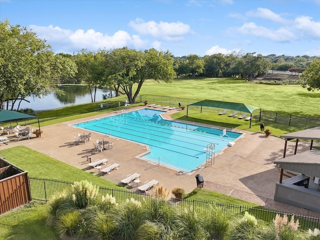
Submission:
MULTIPOLYGON (((65 91, 65 95, 57 95, 55 93, 50 93, 38 97, 27 97, 27 101, 21 101, 19 109, 31 108, 33 110, 47 110, 54 109, 63 106, 69 106, 80 103, 91 102, 91 96, 89 88, 86 86, 59 86, 59 89, 65 91)), ((92 91, 92 97, 93 97, 92 91)), ((115 96, 115 91, 110 91, 106 89, 96 89, 95 101, 100 101, 106 98, 115 96)), ((17 108, 17 104, 14 104, 14 108, 17 108)))

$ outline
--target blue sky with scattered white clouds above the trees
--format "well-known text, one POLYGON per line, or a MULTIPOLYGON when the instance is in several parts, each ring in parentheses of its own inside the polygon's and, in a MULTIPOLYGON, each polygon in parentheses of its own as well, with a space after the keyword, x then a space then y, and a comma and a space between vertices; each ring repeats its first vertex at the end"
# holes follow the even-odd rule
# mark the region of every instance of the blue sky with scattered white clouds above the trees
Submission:
POLYGON ((0 0, 0 21, 54 52, 122 46, 174 56, 320 56, 320 0, 0 0))

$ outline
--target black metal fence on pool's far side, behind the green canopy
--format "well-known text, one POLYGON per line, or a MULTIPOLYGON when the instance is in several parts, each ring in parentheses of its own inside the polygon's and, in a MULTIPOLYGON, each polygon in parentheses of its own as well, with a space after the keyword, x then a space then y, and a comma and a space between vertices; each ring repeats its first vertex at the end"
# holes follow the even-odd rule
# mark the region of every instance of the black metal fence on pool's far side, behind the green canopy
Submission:
MULTIPOLYGON (((152 103, 157 103, 161 105, 171 105, 171 106, 178 106, 178 103, 180 102, 181 105, 187 106, 188 104, 191 104, 203 99, 188 99, 188 98, 181 98, 181 97, 158 96, 158 95, 146 94, 146 95, 140 95, 139 100, 140 102, 147 100, 152 103)), ((254 112, 252 117, 255 119, 259 119, 258 110, 254 112)), ((292 115, 292 114, 290 115, 290 114, 284 114, 284 113, 279 113, 275 111, 268 111, 268 110, 261 109, 260 121, 262 120, 296 126, 302 129, 320 126, 320 119, 318 118, 292 115)))

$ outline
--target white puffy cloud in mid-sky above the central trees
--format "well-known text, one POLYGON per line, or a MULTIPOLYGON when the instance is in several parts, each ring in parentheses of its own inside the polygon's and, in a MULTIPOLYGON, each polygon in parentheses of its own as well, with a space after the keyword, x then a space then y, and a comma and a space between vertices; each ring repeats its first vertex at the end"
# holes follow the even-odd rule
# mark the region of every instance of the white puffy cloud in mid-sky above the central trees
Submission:
POLYGON ((135 21, 130 21, 129 26, 140 34, 151 35, 156 39, 164 39, 168 41, 181 41, 184 35, 190 34, 191 29, 188 24, 180 21, 177 22, 164 22, 155 21, 145 22, 141 18, 136 18, 135 21))

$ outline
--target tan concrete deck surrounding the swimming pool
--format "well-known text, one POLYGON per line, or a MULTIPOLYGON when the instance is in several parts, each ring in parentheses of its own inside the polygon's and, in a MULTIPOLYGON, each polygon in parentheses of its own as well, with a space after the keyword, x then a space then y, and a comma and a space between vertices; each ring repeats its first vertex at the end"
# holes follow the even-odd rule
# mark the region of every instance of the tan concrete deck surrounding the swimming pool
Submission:
MULTIPOLYGON (((144 107, 137 106, 129 108, 129 110, 144 107)), ((162 116, 167 120, 171 120, 170 114, 179 110, 168 110, 162 116)), ((239 132, 244 133, 243 137, 238 138, 233 146, 225 147, 218 152, 215 155, 214 164, 203 165, 190 173, 151 164, 139 157, 148 151, 146 145, 112 135, 106 136, 92 132, 91 141, 80 144, 74 143, 73 136, 83 132, 83 129, 73 127, 71 124, 118 113, 121 113, 121 110, 44 126, 41 127, 43 130, 41 137, 35 137, 33 134, 30 140, 26 138, 17 141, 14 134, 10 134, 10 142, 7 145, 0 144, 0 149, 24 145, 114 183, 119 183, 127 174, 137 172, 141 174, 139 184, 143 184, 147 180, 156 179, 159 181, 159 185, 169 189, 183 187, 186 192, 190 192, 196 187, 195 175, 201 174, 204 179, 203 188, 205 189, 215 190, 279 211, 320 216, 320 213, 273 200, 275 183, 279 181, 280 177, 280 169, 273 161, 282 158, 284 148, 284 140, 279 137, 266 137, 264 133, 241 130, 239 132), (96 139, 113 140, 113 148, 104 150, 102 153, 93 150, 93 143, 95 143, 96 139), (107 158, 107 164, 116 162, 120 166, 118 169, 111 171, 110 174, 103 175, 101 172, 95 171, 94 168, 87 168, 87 157, 91 157, 91 161, 107 158)), ((217 126, 217 128, 221 127, 217 126)), ((88 131, 84 132, 88 133, 88 131)), ((319 143, 315 142, 313 145, 319 145, 319 143)), ((294 146, 295 142, 288 141, 286 156, 293 154, 294 146)), ((309 142, 299 142, 297 152, 308 149, 309 142)), ((137 186, 132 183, 127 186, 127 189, 136 191, 137 186)))

